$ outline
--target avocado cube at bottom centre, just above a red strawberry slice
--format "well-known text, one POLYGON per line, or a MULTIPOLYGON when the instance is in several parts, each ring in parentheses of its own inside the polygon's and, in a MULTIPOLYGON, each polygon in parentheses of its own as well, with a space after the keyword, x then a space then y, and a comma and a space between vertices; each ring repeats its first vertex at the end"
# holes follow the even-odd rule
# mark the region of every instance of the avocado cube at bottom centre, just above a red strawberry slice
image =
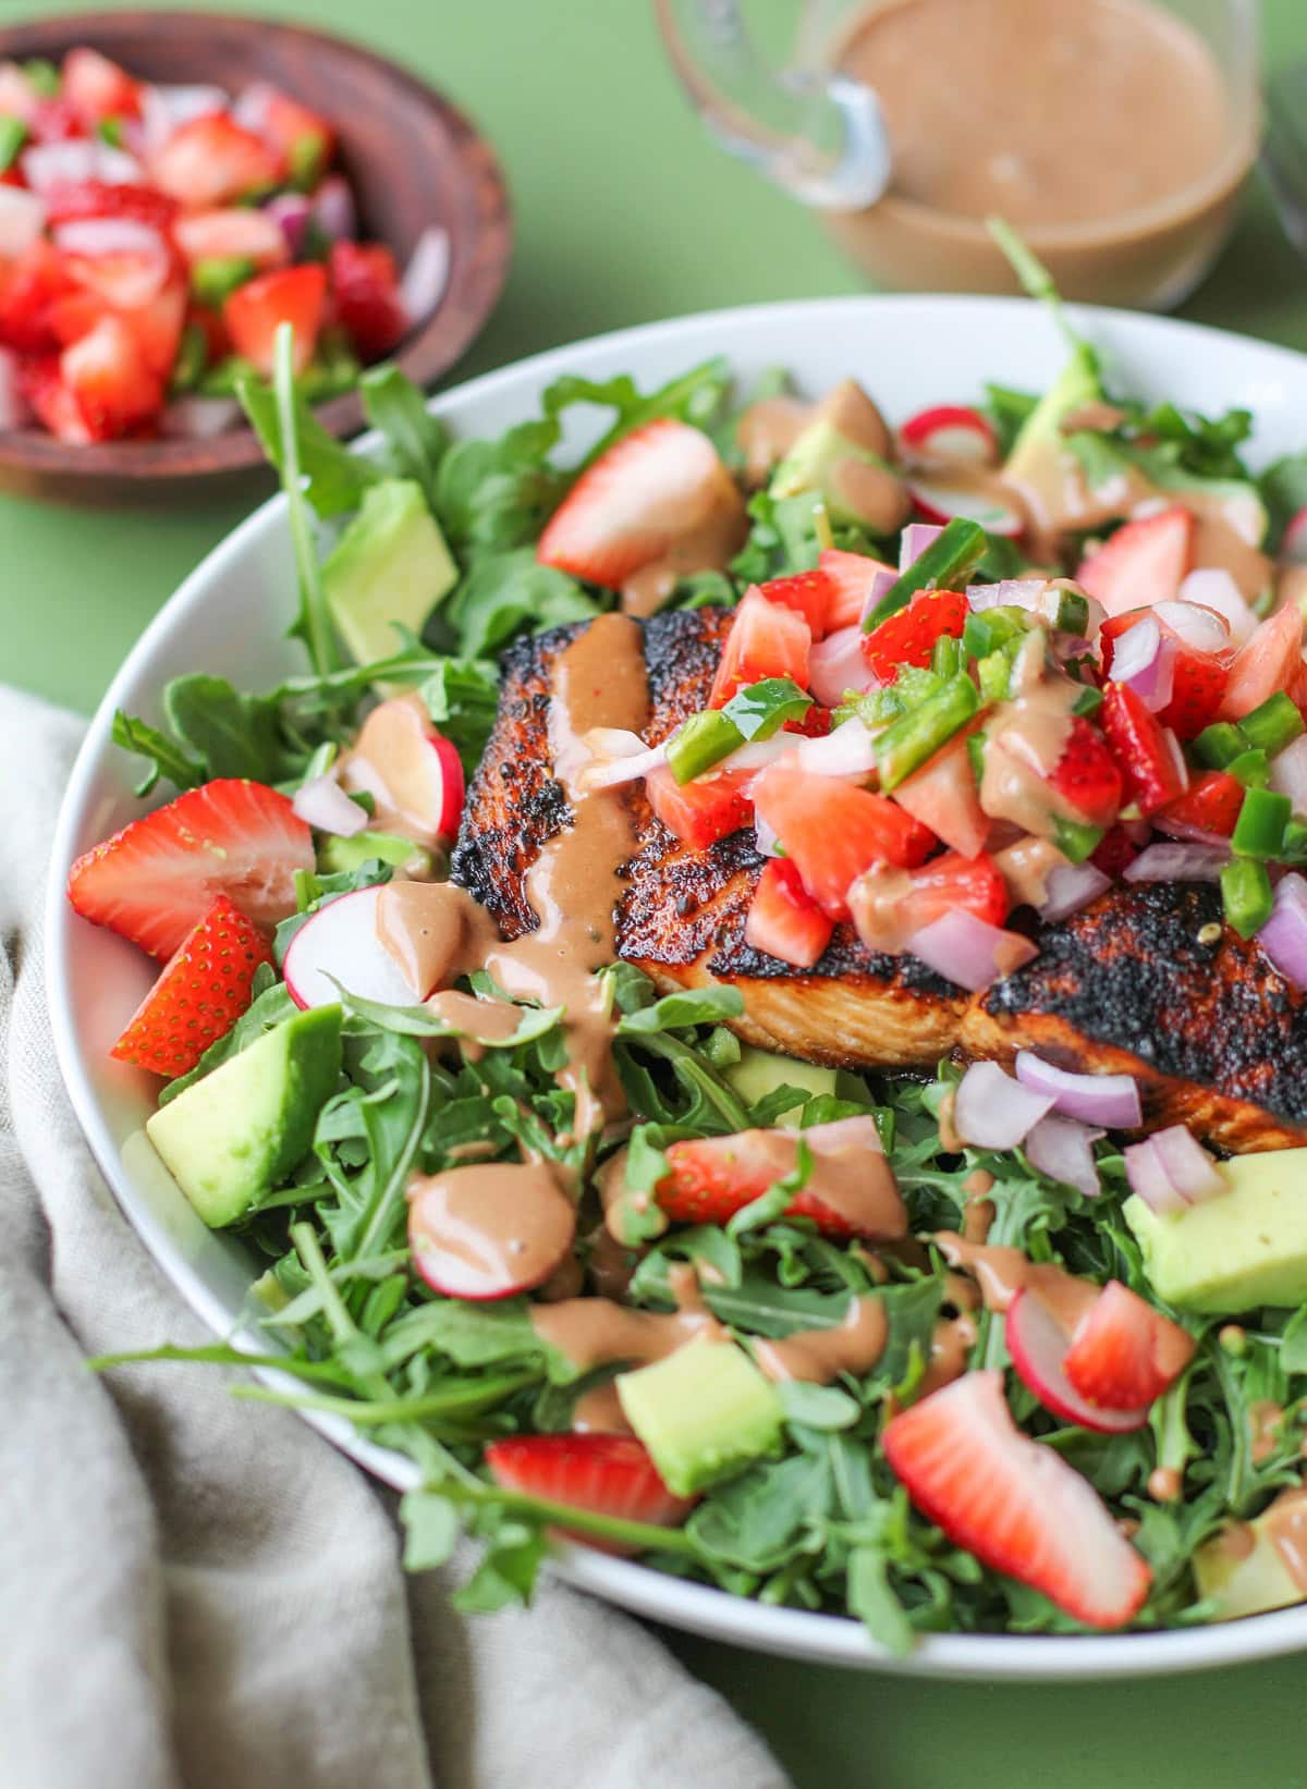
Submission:
POLYGON ((618 1376, 632 1429, 679 1497, 730 1478, 781 1444, 781 1399, 734 1342, 696 1336, 618 1376))

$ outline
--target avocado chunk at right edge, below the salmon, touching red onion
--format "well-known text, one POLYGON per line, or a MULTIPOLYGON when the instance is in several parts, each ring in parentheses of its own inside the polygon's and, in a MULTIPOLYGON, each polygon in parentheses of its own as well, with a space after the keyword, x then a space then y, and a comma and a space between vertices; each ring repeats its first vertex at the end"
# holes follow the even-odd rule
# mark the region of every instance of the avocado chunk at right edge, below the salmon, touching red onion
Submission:
POLYGON ((1128 1199, 1144 1270, 1167 1304, 1234 1317, 1307 1299, 1307 1149, 1237 1156, 1217 1168, 1230 1191, 1158 1217, 1128 1199))

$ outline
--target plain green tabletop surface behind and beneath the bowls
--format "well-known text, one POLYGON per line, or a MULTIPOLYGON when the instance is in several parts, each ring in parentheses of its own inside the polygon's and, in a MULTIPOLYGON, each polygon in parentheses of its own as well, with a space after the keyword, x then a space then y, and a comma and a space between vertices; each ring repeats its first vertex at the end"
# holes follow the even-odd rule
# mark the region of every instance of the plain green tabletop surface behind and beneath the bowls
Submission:
MULTIPOLYGON (((0 0, 0 21, 36 11, 47 9, 0 0)), ((457 377, 625 324, 859 290, 804 211, 711 148, 643 0, 281 0, 276 11, 365 38, 430 77, 503 157, 514 270, 457 377)), ((1262 34, 1268 64, 1307 59, 1307 0, 1264 0, 1262 34)), ((1307 270, 1260 182, 1182 315, 1307 349, 1307 270)), ((90 710, 141 626, 247 508, 190 497, 97 513, 0 499, 0 674, 90 710)), ((1298 1658, 1140 1683, 938 1685, 670 1639, 763 1728, 800 1789, 1205 1789, 1253 1776, 1307 1789, 1298 1658)))

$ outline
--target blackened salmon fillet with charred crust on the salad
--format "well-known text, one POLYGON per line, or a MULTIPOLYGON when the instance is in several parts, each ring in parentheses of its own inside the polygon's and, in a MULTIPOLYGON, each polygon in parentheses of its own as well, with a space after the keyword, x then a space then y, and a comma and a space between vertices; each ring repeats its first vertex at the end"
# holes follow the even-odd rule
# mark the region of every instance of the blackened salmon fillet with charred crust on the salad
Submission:
MULTIPOLYGON (((473 778, 453 877, 505 937, 532 930, 525 891, 539 850, 571 823, 550 757, 550 682, 578 626, 517 640, 501 660, 494 732, 473 778)), ((730 612, 677 610, 645 628, 646 737, 707 707, 730 612)), ((1040 955, 967 995, 911 955, 867 950, 840 925, 820 962, 795 970, 745 943, 763 859, 752 832, 705 852, 680 844, 632 785, 637 850, 618 909, 618 954, 662 989, 730 984, 748 1043, 838 1068, 922 1070, 940 1057, 1019 1048, 1065 1068, 1139 1079, 1149 1129, 1187 1123, 1239 1150, 1307 1141, 1307 1000, 1219 923, 1196 884, 1121 886, 1062 925, 1040 955)))

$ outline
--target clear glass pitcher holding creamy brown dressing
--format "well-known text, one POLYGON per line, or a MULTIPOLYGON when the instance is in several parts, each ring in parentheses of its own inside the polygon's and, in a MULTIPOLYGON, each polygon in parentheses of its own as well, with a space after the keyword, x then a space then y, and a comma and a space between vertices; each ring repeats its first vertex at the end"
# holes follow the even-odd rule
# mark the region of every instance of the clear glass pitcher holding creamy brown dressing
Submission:
POLYGON ((1069 297, 1169 308, 1257 156, 1255 0, 654 4, 716 140, 877 284, 1017 290, 997 213, 1069 297))

